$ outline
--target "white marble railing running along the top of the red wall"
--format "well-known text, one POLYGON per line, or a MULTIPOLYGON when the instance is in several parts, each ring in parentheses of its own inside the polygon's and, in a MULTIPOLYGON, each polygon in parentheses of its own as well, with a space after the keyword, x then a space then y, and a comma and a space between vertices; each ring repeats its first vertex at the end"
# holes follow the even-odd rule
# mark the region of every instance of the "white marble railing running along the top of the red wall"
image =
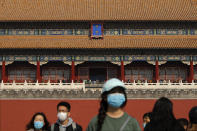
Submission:
MULTIPOLYGON (((3 81, 0 84, 0 90, 6 89, 47 89, 47 90, 53 90, 53 89, 64 89, 64 90, 101 90, 102 84, 85 84, 83 83, 27 83, 26 81, 24 83, 3 83, 3 81)), ((127 89, 197 89, 197 83, 182 83, 181 81, 179 83, 171 83, 170 81, 167 83, 125 83, 125 86, 127 89)))

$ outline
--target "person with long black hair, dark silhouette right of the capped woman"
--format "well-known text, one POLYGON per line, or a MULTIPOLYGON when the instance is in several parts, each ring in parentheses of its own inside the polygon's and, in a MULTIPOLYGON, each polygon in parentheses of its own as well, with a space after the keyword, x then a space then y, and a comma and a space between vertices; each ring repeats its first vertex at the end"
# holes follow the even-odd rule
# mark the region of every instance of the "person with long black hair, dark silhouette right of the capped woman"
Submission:
POLYGON ((166 97, 156 101, 152 110, 152 119, 144 131, 184 131, 173 114, 173 103, 166 97))

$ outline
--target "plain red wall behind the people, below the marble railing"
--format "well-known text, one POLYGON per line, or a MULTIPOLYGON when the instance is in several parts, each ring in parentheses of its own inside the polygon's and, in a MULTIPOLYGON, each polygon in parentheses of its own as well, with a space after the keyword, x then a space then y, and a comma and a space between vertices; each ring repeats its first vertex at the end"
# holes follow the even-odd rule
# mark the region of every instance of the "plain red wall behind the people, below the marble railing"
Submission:
MULTIPOLYGON (((63 100, 63 99, 62 99, 63 100)), ((35 112, 44 112, 48 120, 56 121, 56 105, 61 100, 1 100, 0 131, 23 131, 35 112)), ((71 103, 72 118, 85 129, 93 116, 97 114, 98 100, 67 100, 71 103)), ((128 100, 125 108, 142 125, 142 115, 152 110, 155 100, 128 100)), ((177 118, 186 117, 197 100, 173 100, 177 118)))

